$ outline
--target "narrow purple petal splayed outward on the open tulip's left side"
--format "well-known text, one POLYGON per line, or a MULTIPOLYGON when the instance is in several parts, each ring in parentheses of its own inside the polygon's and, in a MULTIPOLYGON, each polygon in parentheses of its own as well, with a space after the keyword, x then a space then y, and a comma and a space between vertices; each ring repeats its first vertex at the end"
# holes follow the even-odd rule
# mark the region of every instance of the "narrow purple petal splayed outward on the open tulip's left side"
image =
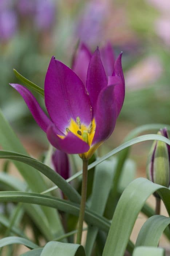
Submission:
POLYGON ((10 85, 21 94, 29 110, 31 111, 35 121, 41 127, 41 129, 43 129, 43 131, 46 132, 48 126, 52 124, 52 121, 43 112, 36 98, 27 88, 20 84, 10 83, 10 85))

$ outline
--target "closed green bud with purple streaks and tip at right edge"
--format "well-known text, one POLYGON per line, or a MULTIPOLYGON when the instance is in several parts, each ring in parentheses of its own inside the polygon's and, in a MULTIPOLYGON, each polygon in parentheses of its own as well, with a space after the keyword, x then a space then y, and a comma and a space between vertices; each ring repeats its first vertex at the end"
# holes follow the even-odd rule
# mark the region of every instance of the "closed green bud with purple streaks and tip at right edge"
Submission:
MULTIPOLYGON (((161 129, 158 135, 168 138, 167 129, 161 129)), ((162 141, 154 141, 147 161, 147 178, 159 185, 169 187, 170 184, 170 159, 169 145, 162 141)))

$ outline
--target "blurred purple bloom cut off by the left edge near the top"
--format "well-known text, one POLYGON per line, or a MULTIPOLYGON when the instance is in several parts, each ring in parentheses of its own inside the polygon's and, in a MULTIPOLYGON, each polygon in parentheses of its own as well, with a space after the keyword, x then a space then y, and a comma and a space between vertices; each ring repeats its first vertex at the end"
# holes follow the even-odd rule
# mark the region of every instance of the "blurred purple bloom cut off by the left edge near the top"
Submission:
POLYGON ((7 41, 17 31, 17 15, 15 11, 1 8, 0 10, 0 41, 7 41))

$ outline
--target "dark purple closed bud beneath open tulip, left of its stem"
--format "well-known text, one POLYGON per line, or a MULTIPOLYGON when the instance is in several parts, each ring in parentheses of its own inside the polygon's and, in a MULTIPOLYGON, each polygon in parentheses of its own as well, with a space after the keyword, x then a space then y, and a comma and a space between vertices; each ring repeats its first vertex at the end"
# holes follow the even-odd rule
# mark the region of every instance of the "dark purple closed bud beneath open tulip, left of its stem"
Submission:
POLYGON ((68 155, 56 149, 52 154, 52 164, 57 173, 59 173, 65 180, 70 177, 70 164, 68 155))

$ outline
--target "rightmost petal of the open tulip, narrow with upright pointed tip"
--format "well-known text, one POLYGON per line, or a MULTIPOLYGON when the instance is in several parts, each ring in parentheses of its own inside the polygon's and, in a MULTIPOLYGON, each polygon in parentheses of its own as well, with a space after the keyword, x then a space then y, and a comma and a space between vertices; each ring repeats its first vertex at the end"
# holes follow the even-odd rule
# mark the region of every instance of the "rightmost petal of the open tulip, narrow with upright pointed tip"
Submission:
POLYGON ((112 76, 108 77, 108 86, 115 84, 114 94, 117 102, 117 116, 122 109, 124 96, 125 96, 125 84, 124 84, 124 76, 121 64, 122 53, 119 54, 117 60, 114 65, 114 72, 112 76), (116 84, 117 79, 117 84, 116 84))

